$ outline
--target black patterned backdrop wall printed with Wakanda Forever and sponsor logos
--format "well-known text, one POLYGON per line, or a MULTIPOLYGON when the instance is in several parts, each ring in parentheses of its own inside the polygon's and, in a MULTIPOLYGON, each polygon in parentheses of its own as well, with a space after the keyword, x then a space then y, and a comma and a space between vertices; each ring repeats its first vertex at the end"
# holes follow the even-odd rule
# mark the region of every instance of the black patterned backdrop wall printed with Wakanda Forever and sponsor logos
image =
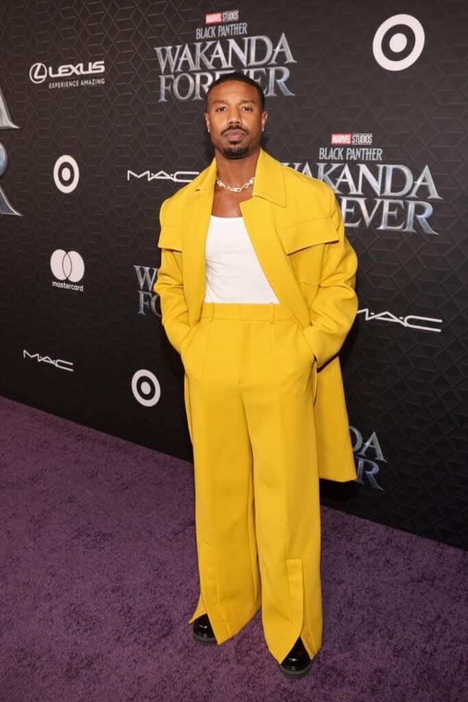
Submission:
POLYGON ((463 0, 4 0, 1 394, 192 459, 159 207, 212 158, 206 86, 242 69, 265 149, 333 186, 359 256, 359 477, 323 500, 466 545, 467 20, 463 0))

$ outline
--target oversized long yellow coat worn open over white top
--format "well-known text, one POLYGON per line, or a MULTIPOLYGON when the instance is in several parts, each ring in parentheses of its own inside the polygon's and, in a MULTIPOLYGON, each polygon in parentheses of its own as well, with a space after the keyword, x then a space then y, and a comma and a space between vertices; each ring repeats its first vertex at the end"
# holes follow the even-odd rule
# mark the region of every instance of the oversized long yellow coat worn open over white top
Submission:
MULTIPOLYGON (((163 202, 154 291, 173 347, 200 319, 206 290, 205 246, 213 208, 216 161, 163 202)), ((300 325, 317 362, 315 423, 319 477, 356 479, 337 353, 358 308, 357 258, 333 188, 260 150, 251 199, 241 213, 276 297, 300 325)), ((185 378, 185 406, 190 416, 185 378)))

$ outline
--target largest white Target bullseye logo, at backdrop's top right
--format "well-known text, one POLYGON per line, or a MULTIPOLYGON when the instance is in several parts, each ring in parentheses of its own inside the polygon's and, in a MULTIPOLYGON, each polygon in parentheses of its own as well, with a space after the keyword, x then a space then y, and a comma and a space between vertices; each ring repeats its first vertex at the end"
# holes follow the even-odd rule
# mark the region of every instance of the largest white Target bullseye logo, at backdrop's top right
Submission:
POLYGON ((403 71, 413 65, 424 48, 424 29, 412 15, 393 15, 375 32, 374 58, 387 71, 403 71))

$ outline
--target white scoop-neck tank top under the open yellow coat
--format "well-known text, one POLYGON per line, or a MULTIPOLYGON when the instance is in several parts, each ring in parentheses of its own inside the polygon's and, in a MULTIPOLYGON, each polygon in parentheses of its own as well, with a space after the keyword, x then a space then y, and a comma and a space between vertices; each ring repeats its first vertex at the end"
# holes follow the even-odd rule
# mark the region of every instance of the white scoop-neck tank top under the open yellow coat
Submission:
POLYGON ((242 217, 210 218, 205 302, 279 303, 260 267, 242 217))

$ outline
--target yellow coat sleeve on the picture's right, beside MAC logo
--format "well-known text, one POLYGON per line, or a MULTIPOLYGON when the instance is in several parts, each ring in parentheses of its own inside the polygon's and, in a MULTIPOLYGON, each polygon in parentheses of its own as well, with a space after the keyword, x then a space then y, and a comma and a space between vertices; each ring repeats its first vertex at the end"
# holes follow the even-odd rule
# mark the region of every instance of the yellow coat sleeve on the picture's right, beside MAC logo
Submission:
POLYGON ((357 256, 345 235, 345 223, 335 193, 331 188, 330 192, 329 216, 339 240, 325 244, 319 289, 309 307, 310 325, 304 329, 318 367, 340 350, 358 309, 354 291, 357 256))

